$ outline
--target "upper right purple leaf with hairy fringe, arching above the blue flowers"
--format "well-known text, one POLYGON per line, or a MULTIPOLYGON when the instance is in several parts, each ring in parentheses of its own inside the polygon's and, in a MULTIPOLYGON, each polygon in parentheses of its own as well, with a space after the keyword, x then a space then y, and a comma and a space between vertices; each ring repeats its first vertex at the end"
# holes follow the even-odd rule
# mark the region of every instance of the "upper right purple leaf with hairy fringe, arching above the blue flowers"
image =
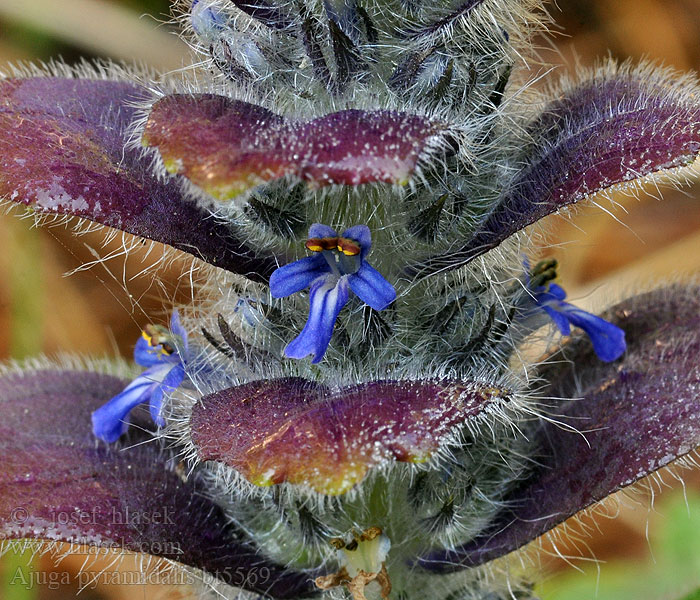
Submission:
POLYGON ((689 76, 608 65, 553 94, 527 130, 532 141, 518 158, 519 169, 475 236, 412 272, 466 264, 528 225, 597 194, 694 174, 700 88, 689 76))

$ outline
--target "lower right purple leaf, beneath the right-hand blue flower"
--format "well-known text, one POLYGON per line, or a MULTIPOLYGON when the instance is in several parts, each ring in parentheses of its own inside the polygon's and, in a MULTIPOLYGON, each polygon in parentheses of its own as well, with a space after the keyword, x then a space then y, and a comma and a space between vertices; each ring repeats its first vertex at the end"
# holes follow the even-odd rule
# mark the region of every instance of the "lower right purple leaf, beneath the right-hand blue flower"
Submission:
POLYGON ((626 354, 606 364, 584 336, 564 345, 568 361, 540 372, 542 396, 563 399, 537 434, 540 466, 504 498, 512 508, 490 531, 423 566, 451 571, 507 554, 700 445, 700 287, 644 294, 605 318, 624 329, 626 354))

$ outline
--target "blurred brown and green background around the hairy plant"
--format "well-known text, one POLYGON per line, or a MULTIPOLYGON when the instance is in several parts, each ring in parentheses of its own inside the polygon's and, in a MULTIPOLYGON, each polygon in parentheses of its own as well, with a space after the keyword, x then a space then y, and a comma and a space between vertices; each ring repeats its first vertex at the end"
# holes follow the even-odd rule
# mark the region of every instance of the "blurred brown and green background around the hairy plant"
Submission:
MULTIPOLYGON (((0 0, 0 65, 111 58, 159 71, 177 69, 191 58, 166 23, 168 5, 166 0, 0 0)), ((681 70, 700 66, 700 0, 559 0, 551 11, 561 30, 553 44, 539 41, 540 53, 562 69, 592 64, 608 53, 681 70)), ((669 192, 663 202, 653 196, 620 198, 621 222, 597 208, 577 211, 575 225, 552 218, 550 242, 556 247, 549 253, 560 259, 569 296, 589 309, 600 308, 650 281, 697 276, 698 197, 695 186, 669 192)), ((0 244, 2 360, 60 351, 129 356, 143 324, 162 314, 164 299, 184 293, 177 265, 161 283, 139 278, 149 259, 125 260, 119 244, 102 248, 99 234, 76 239, 65 227, 30 229, 27 221, 0 216, 0 244), (94 260, 95 252, 113 256, 63 277, 94 260), (120 284, 124 279, 129 293, 120 284)), ((537 587, 542 599, 700 600, 695 593, 700 588, 700 474, 688 471, 683 478, 685 488, 669 475, 663 483, 651 480, 636 491, 634 502, 613 499, 600 514, 569 524, 585 530, 584 536, 542 541, 545 552, 537 563, 546 574, 537 587), (617 518, 610 518, 613 514, 617 518)), ((50 556, 32 558, 31 551, 9 553, 0 560, 0 600, 73 598, 85 558, 79 554, 57 562, 50 556)), ((93 572, 113 568, 113 557, 88 558, 93 572)), ((140 566, 127 556, 119 568, 140 566)), ((79 597, 174 599, 187 591, 97 582, 79 597)))

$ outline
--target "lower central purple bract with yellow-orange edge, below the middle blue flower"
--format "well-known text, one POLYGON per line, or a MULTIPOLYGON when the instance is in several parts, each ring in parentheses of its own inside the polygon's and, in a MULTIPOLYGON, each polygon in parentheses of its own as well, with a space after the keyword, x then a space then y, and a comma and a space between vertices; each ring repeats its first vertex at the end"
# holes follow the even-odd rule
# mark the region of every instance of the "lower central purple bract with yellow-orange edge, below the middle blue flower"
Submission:
POLYGON ((303 379, 255 381, 194 406, 192 440, 256 485, 342 494, 376 465, 422 462, 458 424, 508 399, 470 382, 375 381, 338 391, 303 379))

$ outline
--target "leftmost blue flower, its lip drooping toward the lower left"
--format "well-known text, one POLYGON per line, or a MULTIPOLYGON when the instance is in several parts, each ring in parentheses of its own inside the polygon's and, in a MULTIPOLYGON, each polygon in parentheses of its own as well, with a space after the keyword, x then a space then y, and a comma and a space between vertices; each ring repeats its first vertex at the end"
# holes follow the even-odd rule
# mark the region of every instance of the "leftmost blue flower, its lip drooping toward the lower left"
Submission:
POLYGON ((147 327, 134 348, 134 360, 148 367, 124 391, 92 413, 92 431, 105 442, 116 442, 129 427, 128 415, 135 406, 148 402, 151 418, 159 427, 165 425, 161 416, 163 394, 175 391, 185 378, 187 333, 180 324, 177 311, 170 319, 170 331, 165 327, 147 327), (181 348, 176 347, 176 342, 181 348))

